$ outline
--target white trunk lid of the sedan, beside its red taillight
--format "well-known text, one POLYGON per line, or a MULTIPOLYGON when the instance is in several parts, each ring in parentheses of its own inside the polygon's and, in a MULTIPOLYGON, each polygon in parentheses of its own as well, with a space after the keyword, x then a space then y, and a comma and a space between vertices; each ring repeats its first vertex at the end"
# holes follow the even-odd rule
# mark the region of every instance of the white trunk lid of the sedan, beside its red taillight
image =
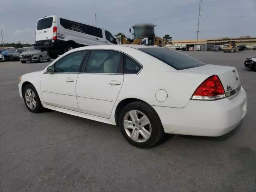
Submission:
POLYGON ((240 88, 240 78, 235 67, 206 64, 204 66, 186 69, 187 71, 218 75, 225 93, 240 88))

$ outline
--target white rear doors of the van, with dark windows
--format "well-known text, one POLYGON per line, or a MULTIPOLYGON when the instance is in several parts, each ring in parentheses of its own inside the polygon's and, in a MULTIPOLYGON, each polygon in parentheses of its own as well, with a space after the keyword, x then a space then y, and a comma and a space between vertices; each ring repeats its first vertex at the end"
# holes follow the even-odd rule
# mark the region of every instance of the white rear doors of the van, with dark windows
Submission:
POLYGON ((53 17, 45 17, 37 21, 36 41, 51 40, 53 29, 53 17))

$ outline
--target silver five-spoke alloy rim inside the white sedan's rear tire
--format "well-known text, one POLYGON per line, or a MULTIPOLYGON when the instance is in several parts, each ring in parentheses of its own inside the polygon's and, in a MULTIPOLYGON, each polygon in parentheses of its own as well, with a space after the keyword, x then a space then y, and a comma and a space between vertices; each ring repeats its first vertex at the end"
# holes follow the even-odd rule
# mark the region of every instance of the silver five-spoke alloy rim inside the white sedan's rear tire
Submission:
POLYGON ((124 116, 124 129, 126 134, 138 143, 147 141, 152 131, 150 120, 138 110, 131 110, 126 113, 124 116))

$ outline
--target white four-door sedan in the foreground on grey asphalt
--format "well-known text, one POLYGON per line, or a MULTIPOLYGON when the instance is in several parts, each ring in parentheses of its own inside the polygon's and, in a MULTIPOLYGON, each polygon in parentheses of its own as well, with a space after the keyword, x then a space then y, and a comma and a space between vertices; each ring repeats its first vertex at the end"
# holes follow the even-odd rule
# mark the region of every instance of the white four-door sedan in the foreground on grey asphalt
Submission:
POLYGON ((76 48, 19 82, 30 112, 49 108, 117 125, 140 148, 163 133, 222 136, 247 111, 236 68, 155 46, 76 48))

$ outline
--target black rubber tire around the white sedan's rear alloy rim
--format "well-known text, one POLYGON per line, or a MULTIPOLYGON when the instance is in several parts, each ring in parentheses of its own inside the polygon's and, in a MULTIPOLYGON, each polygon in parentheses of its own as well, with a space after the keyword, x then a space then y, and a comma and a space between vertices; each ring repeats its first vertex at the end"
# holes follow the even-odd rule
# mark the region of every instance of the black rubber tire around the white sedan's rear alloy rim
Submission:
POLYGON ((140 101, 132 102, 123 108, 123 110, 121 111, 120 116, 119 116, 118 124, 121 128, 121 132, 122 132, 124 138, 130 144, 132 144, 133 146, 136 146, 138 148, 152 147, 154 144, 156 144, 162 138, 162 135, 164 134, 162 123, 161 123, 160 118, 158 117, 158 114, 156 113, 156 111, 148 104, 146 104, 144 102, 140 102, 140 101), (148 117, 148 120, 150 121, 151 134, 150 134, 150 137, 148 138, 148 140, 146 140, 145 142, 136 142, 136 141, 132 140, 128 136, 128 134, 126 133, 126 131, 124 129, 124 117, 131 110, 138 110, 138 111, 142 112, 143 114, 145 114, 148 117))

